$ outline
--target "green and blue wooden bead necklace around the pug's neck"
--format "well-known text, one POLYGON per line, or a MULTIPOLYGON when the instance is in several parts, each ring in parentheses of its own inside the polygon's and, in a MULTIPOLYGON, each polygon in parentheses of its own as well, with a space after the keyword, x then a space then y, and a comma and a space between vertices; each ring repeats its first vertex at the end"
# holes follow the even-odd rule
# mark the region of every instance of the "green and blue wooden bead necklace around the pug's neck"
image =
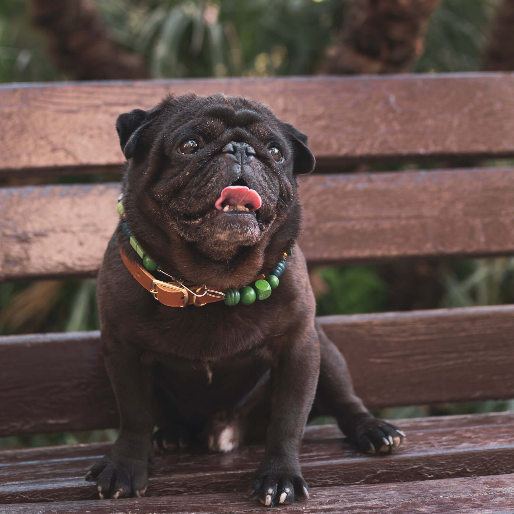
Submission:
MULTIPOLYGON (((122 203, 123 193, 118 196, 118 207, 117 211, 121 217, 121 230, 123 233, 129 238, 130 244, 132 248, 136 251, 139 257, 143 260, 143 266, 148 271, 159 271, 163 272, 162 269, 158 266, 158 264, 150 258, 138 244, 136 238, 132 234, 129 226, 125 221, 125 212, 123 210, 122 203)), ((238 303, 242 303, 243 305, 250 305, 255 302, 255 300, 265 300, 271 296, 271 291, 278 287, 278 279, 281 274, 286 269, 286 259, 288 255, 293 254, 293 249, 289 248, 287 252, 283 254, 282 259, 280 259, 275 267, 270 271, 270 274, 265 279, 256 280, 251 286, 244 286, 241 289, 227 289, 224 291, 223 302, 225 305, 234 306, 238 303)), ((165 273, 167 274, 167 273, 165 273)))

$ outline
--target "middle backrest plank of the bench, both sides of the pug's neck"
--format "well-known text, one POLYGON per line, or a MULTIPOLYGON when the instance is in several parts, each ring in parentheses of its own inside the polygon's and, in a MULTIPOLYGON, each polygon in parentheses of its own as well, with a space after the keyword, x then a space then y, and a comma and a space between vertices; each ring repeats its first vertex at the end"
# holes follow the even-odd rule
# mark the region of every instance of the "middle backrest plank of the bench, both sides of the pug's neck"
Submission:
MULTIPOLYGON (((303 178, 308 261, 514 253, 514 169, 303 178)), ((0 189, 0 280, 96 273, 117 184, 0 189)))

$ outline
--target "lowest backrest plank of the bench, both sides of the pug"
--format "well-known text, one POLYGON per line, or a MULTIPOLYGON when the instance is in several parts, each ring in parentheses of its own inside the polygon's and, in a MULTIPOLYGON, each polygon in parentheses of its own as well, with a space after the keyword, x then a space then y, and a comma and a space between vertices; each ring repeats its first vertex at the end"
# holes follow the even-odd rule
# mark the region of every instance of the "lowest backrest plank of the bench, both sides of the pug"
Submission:
MULTIPOLYGON (((370 408, 514 397, 514 306, 320 318, 370 408)), ((0 436, 117 426, 98 333, 0 338, 0 436)))

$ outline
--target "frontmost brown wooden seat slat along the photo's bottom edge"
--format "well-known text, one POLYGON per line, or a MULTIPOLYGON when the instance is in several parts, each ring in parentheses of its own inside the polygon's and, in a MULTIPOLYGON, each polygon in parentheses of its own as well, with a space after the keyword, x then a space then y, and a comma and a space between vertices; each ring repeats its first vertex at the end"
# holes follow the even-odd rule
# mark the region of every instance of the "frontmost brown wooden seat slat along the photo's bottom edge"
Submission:
POLYGON ((514 475, 354 485, 311 490, 311 499, 270 510, 242 492, 0 506, 0 514, 179 514, 194 512, 341 512, 374 514, 513 514, 514 475))

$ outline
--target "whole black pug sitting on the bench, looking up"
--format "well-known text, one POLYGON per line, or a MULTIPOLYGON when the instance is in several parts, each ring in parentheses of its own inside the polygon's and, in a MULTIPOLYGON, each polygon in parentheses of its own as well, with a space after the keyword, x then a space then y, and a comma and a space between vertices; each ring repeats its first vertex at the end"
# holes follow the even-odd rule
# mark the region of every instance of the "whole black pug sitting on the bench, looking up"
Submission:
POLYGON ((144 494, 154 445, 225 452, 265 440, 251 498, 307 499, 298 451, 309 413, 334 416, 363 452, 398 448, 403 432, 367 411, 314 319, 296 245, 296 176, 314 168, 307 136, 220 94, 169 96, 116 128, 128 160, 122 223, 97 296, 120 433, 86 475, 100 498, 144 494))

